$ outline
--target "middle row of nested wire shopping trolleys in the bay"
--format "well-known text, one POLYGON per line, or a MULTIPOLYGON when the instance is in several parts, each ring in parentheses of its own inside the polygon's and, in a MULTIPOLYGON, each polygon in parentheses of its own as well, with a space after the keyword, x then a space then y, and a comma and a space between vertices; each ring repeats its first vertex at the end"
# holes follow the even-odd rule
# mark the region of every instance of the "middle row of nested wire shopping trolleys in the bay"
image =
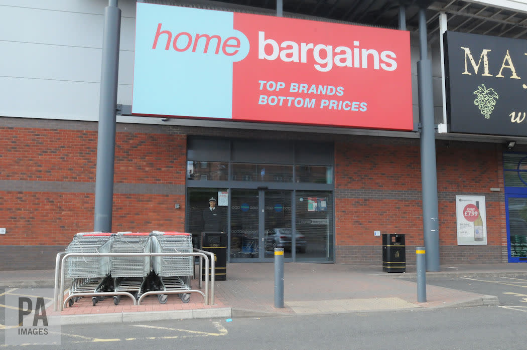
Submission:
MULTIPOLYGON (((150 233, 119 232, 113 235, 111 253, 150 253, 150 233)), ((139 298, 152 271, 150 256, 112 256, 110 274, 114 292, 132 292, 139 298)), ((118 305, 120 295, 113 297, 118 305)))

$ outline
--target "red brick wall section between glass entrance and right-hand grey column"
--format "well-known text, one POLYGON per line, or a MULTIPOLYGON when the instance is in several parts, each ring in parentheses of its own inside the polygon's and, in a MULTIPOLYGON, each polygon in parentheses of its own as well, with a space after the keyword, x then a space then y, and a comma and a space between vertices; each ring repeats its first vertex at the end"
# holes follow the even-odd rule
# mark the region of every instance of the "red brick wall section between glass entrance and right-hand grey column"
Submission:
POLYGON ((382 238, 374 236, 376 230, 405 234, 408 245, 423 244, 421 201, 403 199, 405 194, 399 199, 389 194, 393 191, 420 193, 419 164, 419 146, 415 142, 404 145, 337 142, 335 188, 372 192, 367 199, 336 196, 337 246, 380 246, 382 238))

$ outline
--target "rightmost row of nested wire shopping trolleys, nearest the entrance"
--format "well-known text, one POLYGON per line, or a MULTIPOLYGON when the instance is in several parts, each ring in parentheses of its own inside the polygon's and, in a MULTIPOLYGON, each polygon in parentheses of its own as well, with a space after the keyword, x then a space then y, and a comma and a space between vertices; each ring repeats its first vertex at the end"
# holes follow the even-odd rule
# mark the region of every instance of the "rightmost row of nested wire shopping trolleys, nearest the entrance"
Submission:
MULTIPOLYGON (((154 253, 192 253, 192 235, 182 232, 152 232, 152 252, 154 253)), ((152 268, 157 275, 159 291, 189 291, 194 274, 193 256, 154 256, 152 268)), ((190 301, 190 293, 180 293, 183 303, 190 301)), ((161 304, 167 303, 166 294, 158 294, 161 304)))

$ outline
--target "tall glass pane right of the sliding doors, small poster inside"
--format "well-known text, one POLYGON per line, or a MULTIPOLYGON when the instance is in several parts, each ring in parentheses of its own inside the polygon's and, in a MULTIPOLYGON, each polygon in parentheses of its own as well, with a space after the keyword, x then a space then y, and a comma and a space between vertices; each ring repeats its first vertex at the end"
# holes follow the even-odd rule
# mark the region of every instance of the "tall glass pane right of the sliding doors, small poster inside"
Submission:
POLYGON ((330 192, 296 192, 296 229, 305 247, 297 261, 333 260, 333 197, 330 192))

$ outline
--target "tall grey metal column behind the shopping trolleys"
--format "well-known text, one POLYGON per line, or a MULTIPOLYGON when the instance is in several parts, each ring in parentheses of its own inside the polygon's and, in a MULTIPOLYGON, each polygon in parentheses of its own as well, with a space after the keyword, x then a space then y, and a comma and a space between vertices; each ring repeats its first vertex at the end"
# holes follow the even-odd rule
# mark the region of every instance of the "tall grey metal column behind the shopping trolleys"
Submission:
POLYGON ((113 162, 115 156, 115 107, 119 71, 121 9, 117 0, 104 8, 104 34, 97 132, 97 171, 95 178, 94 231, 112 231, 113 162))

